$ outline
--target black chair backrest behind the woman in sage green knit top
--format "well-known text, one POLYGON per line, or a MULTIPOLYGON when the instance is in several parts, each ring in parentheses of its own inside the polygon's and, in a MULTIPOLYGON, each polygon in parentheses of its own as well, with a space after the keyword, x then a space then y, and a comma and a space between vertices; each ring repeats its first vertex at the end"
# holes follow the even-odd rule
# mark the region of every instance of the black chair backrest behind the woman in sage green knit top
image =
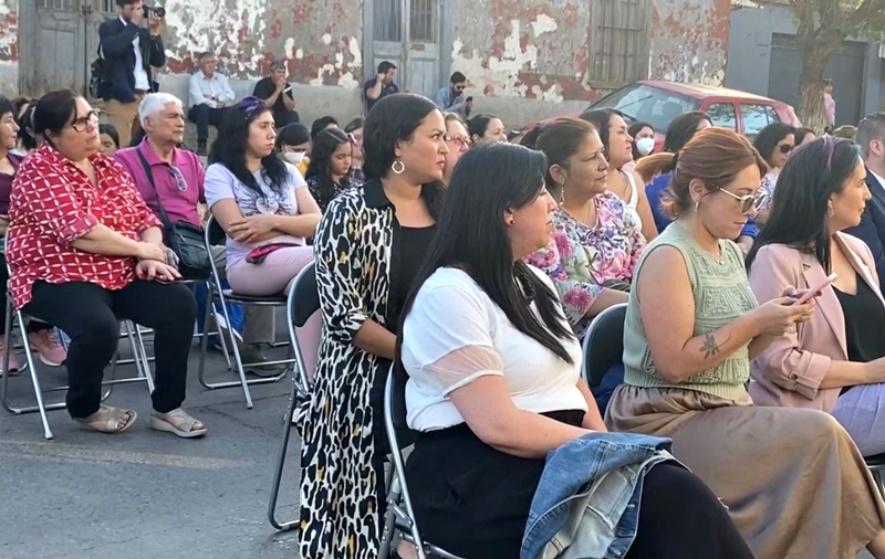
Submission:
POLYGON ((608 369, 623 359, 624 320, 627 304, 613 305, 593 318, 584 335, 584 380, 591 388, 600 386, 608 369))

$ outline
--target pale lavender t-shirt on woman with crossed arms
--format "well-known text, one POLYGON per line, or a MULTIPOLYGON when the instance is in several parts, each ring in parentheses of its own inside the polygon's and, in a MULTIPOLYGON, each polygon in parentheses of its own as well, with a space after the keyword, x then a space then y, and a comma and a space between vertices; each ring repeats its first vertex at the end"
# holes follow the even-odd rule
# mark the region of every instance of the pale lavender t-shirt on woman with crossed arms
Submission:
MULTIPOLYGON (((240 207, 240 213, 244 218, 257 213, 269 215, 298 215, 298 200, 295 190, 304 188, 308 183, 298 171, 294 165, 284 164, 289 176, 280 192, 273 190, 268 183, 261 171, 256 171, 252 176, 258 186, 261 187, 263 196, 247 187, 233 176, 230 170, 221 164, 212 164, 206 169, 204 188, 206 190, 206 204, 209 210, 219 200, 235 200, 240 207)), ((298 243, 306 244, 303 238, 291 235, 279 235, 260 243, 238 243, 233 239, 227 239, 227 265, 230 267, 235 263, 244 259, 252 249, 269 243, 298 243)))

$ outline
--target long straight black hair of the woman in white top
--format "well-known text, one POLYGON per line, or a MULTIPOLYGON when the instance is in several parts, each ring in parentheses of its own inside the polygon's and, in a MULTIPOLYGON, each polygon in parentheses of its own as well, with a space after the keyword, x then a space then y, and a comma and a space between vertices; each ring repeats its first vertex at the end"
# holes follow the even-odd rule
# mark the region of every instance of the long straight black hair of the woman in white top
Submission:
POLYGON ((457 267, 473 278, 519 331, 573 365, 563 341, 576 338, 565 324, 559 298, 528 264, 514 260, 504 224, 507 210, 522 208, 540 196, 545 173, 543 154, 513 144, 478 146, 461 157, 427 260, 403 307, 399 331, 424 282, 440 267, 457 267))

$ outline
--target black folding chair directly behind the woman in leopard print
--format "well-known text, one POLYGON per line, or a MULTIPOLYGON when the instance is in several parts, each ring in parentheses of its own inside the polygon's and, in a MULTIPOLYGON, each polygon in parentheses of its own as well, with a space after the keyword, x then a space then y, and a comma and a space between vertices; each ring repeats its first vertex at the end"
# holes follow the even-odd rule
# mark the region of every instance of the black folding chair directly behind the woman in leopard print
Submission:
POLYGON ((296 375, 292 376, 292 391, 289 394, 289 407, 285 411, 283 440, 280 445, 280 453, 277 456, 277 467, 273 472, 273 484, 270 488, 270 502, 268 503, 268 520, 278 530, 291 530, 299 523, 298 518, 285 523, 277 519, 277 499, 280 495, 285 453, 289 449, 289 437, 292 432, 292 418, 294 416, 295 408, 310 397, 311 390, 301 344, 299 344, 295 335, 295 327, 303 327, 317 310, 320 310, 320 293, 316 289, 316 266, 308 266, 299 273, 289 289, 289 297, 285 304, 285 324, 289 326, 289 341, 292 344, 295 354, 296 375))

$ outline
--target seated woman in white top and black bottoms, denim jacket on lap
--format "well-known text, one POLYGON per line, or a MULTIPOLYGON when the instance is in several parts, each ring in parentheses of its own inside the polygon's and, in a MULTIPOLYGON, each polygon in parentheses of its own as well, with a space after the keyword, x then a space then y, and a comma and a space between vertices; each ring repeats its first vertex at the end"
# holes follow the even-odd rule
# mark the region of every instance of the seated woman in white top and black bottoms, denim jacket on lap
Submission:
MULTIPOLYGON (((407 422, 419 432, 412 504, 427 541, 460 557, 519 557, 544 457, 605 431, 553 285, 522 261, 550 236, 546 170, 521 146, 466 154, 403 309, 407 422)), ((714 494, 674 464, 645 476, 633 527, 629 559, 752 557, 714 494)))

